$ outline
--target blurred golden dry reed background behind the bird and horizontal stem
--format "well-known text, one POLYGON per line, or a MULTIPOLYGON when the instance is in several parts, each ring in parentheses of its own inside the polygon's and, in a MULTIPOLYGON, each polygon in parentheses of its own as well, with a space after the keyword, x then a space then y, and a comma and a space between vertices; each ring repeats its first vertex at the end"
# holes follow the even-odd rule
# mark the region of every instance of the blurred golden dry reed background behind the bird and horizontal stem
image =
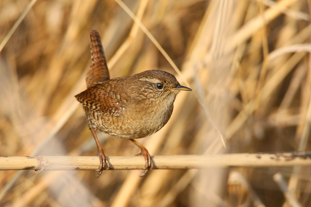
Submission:
MULTIPOLYGON (((0 1, 0 41, 29 2, 0 1)), ((311 1, 124 2, 194 90, 179 93, 165 127, 138 140, 151 155, 310 150, 311 1)), ((97 153, 74 98, 86 88, 91 29, 101 35, 110 77, 176 74, 115 1, 37 1, 0 53, 0 156, 97 153)), ((108 156, 139 152, 128 140, 99 137, 108 156)), ((301 206, 311 206, 310 171, 2 171, 0 206, 288 206, 277 172, 301 206)))

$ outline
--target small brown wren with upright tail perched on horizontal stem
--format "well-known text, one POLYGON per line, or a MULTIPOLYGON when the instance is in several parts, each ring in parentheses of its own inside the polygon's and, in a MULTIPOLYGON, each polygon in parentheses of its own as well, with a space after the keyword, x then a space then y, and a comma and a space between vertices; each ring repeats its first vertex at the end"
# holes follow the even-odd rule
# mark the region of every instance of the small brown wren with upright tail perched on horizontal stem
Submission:
POLYGON ((83 105, 87 123, 95 139, 100 167, 98 176, 110 164, 95 130, 127 138, 145 156, 144 176, 153 168, 147 149, 134 139, 156 133, 169 120, 179 91, 191 91, 179 85, 175 76, 162 70, 147 70, 133 76, 110 79, 107 61, 96 30, 90 32, 91 65, 86 74, 87 89, 75 97, 83 105))

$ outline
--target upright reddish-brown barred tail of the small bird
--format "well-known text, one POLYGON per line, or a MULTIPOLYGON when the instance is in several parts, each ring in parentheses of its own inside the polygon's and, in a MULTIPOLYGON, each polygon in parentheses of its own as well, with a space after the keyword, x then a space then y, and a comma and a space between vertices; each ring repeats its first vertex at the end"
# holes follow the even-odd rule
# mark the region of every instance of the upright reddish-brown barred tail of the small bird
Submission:
POLYGON ((91 88, 98 83, 109 80, 109 71, 100 35, 96 30, 90 32, 91 65, 86 74, 86 86, 91 88))

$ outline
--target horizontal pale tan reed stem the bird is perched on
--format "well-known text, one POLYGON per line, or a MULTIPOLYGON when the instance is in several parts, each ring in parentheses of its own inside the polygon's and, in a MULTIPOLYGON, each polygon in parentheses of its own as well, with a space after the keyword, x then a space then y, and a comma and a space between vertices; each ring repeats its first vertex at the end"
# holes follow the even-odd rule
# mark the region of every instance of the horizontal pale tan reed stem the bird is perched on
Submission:
MULTIPOLYGON (((154 156, 154 169, 311 165, 311 152, 154 156)), ((108 157, 110 169, 144 169, 143 156, 108 157)), ((96 156, 0 157, 0 170, 96 170, 96 156)))

